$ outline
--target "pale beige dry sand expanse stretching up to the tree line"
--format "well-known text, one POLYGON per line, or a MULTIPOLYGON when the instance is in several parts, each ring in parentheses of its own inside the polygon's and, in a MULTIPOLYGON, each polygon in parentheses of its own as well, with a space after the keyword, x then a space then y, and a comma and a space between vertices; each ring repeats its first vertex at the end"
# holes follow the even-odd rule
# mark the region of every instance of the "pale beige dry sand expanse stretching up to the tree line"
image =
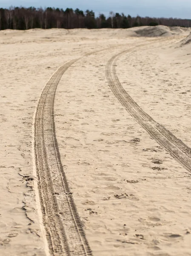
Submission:
POLYGON ((191 255, 190 32, 0 31, 0 255, 191 255))

